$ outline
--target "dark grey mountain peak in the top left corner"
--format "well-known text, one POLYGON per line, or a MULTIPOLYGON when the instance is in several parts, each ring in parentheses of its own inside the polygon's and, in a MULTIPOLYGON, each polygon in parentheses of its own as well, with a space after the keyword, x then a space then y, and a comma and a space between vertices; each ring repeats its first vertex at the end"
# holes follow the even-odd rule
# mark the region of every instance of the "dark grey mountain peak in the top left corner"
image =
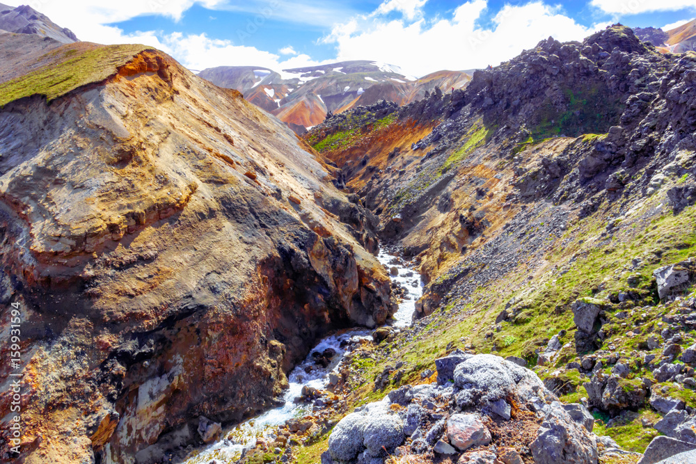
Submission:
POLYGON ((28 5, 13 8, 0 3, 0 29, 17 34, 48 37, 63 43, 78 41, 70 29, 58 26, 46 15, 28 5))

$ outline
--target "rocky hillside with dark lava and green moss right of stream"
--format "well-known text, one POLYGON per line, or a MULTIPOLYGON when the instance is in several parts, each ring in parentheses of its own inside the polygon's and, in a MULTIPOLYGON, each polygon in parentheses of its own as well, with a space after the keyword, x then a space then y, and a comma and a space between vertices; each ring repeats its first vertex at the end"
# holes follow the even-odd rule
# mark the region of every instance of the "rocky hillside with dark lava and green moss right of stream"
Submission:
MULTIPOLYGON (((694 108, 696 54, 662 54, 617 25, 544 40, 464 90, 312 129, 306 141, 427 282, 413 328, 350 363, 352 401, 423 383, 460 347, 534 369, 624 449, 666 435, 641 463, 696 447, 694 108)), ((447 430, 406 453, 438 461, 447 430)), ((524 462, 596 462, 526 450, 524 462)))

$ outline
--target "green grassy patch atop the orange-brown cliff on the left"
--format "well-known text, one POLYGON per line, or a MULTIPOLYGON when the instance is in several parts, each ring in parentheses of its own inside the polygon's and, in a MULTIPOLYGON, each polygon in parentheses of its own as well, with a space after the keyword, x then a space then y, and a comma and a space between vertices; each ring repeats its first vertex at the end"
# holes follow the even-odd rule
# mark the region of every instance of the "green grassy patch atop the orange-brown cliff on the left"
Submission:
POLYGON ((145 49, 144 45, 109 45, 87 51, 61 47, 39 58, 51 64, 1 83, 0 106, 31 95, 44 95, 51 102, 80 86, 103 81, 145 49))

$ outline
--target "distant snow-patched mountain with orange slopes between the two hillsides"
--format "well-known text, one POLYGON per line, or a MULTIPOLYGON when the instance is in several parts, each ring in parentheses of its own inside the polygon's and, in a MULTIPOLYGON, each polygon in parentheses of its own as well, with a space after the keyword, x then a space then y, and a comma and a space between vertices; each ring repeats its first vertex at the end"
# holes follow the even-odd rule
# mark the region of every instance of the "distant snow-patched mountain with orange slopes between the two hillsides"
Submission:
POLYGON ((373 61, 344 61, 330 65, 275 72, 263 67, 214 67, 198 74, 217 86, 239 90, 244 97, 303 134, 329 112, 387 99, 414 102, 432 92, 462 88, 470 80, 464 72, 441 71, 421 79, 404 77, 398 67, 373 61))

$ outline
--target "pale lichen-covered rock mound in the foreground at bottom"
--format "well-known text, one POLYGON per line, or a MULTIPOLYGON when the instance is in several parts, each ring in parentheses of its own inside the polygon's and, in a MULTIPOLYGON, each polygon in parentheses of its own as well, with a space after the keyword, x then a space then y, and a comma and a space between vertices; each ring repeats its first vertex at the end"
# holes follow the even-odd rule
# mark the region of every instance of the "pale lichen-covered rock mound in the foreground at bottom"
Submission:
POLYGON ((493 355, 459 352, 439 361, 437 384, 400 387, 344 417, 322 463, 375 464, 387 453, 404 462, 448 455, 459 463, 597 462, 590 413, 564 408, 532 371, 493 355), (411 441, 402 445, 406 435, 411 441), (505 436, 514 436, 516 451, 498 443, 505 436))

